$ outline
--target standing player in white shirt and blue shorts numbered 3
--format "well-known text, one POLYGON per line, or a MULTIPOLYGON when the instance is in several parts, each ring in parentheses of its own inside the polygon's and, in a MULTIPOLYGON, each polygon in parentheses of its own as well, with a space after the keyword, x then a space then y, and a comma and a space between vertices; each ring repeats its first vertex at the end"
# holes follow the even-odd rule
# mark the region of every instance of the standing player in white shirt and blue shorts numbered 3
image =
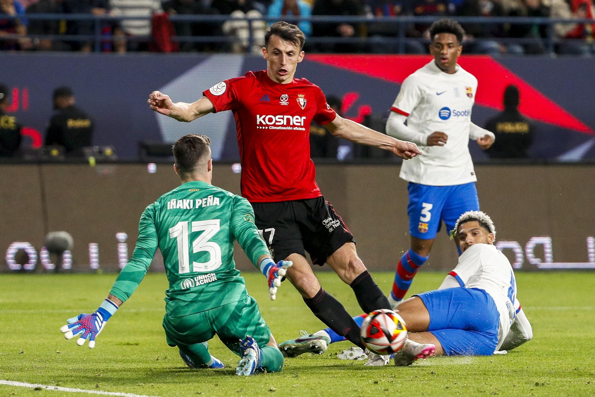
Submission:
POLYGON ((463 212, 479 210, 468 142, 477 139, 487 149, 494 135, 471 123, 477 79, 456 63, 464 33, 448 19, 430 27, 434 60, 405 79, 387 122, 388 135, 424 146, 424 155, 403 162, 399 175, 409 182, 411 248, 397 264, 393 307, 427 261, 441 221, 452 230, 463 212))

